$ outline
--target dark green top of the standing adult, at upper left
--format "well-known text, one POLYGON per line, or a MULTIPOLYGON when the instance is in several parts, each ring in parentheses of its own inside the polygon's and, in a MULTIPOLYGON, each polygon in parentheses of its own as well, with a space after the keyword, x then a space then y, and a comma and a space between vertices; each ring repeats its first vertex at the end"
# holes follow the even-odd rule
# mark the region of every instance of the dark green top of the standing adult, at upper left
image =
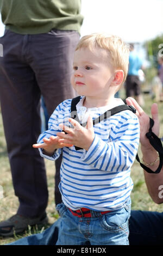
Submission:
POLYGON ((0 0, 5 28, 19 34, 40 34, 52 28, 80 33, 80 0, 0 0))

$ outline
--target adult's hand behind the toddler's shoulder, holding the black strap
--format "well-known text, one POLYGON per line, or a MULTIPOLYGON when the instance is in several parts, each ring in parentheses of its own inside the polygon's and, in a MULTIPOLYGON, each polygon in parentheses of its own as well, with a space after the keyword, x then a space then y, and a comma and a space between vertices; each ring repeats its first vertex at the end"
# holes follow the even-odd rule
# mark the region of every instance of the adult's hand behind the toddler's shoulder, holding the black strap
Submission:
MULTIPOLYGON (((140 143, 141 146, 147 149, 151 149, 152 145, 149 143, 149 139, 146 137, 146 133, 149 131, 149 116, 143 111, 135 99, 128 97, 126 99, 128 105, 133 106, 136 109, 136 115, 139 118, 140 123, 140 143)), ((160 124, 158 116, 158 105, 153 103, 151 107, 152 119, 154 120, 154 126, 152 131, 156 136, 159 136, 160 124)))

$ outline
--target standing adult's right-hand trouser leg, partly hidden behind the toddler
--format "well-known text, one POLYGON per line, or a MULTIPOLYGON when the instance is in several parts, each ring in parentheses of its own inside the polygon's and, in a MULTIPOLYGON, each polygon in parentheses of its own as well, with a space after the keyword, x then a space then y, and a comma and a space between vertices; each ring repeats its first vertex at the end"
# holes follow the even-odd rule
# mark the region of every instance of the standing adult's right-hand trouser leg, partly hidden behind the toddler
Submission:
MULTIPOLYGON (((75 31, 59 31, 30 35, 30 66, 35 72, 37 84, 45 100, 49 116, 64 101, 76 96, 71 83, 74 49, 79 34, 75 31), (48 44, 48 45, 47 45, 48 44)), ((55 161, 55 204, 61 203, 58 188, 61 157, 55 161)))

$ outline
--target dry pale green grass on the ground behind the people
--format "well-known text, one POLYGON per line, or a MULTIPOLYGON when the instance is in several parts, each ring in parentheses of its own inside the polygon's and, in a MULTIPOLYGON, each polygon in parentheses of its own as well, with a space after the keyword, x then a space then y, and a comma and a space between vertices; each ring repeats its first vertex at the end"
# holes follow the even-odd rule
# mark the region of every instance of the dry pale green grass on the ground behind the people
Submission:
MULTIPOLYGON (((123 95, 123 93, 122 93, 123 95)), ((154 102, 151 99, 149 94, 143 95, 145 99, 145 111, 150 115, 151 105, 154 102)), ((159 104, 159 117, 161 123, 161 134, 163 136, 163 103, 159 104)), ((141 157, 140 149, 139 156, 141 157)), ((49 191, 49 200, 47 206, 47 214, 49 218, 49 225, 51 225, 58 218, 57 211, 55 210, 54 204, 54 163, 52 161, 45 160, 46 168, 47 168, 47 180, 48 180, 48 191, 49 191)), ((6 220, 11 215, 16 213, 18 207, 18 199, 14 194, 14 189, 12 187, 12 179, 10 173, 10 166, 7 156, 7 148, 4 138, 3 124, 2 124, 2 116, 0 112, 0 166, 1 166, 1 179, 0 185, 3 187, 3 198, 0 199, 0 221, 6 220)), ((134 189, 131 193, 132 200, 132 209, 133 210, 148 210, 148 211, 163 211, 163 204, 157 205, 155 204, 151 197, 149 197, 147 187, 145 184, 145 179, 143 176, 143 170, 140 167, 139 163, 134 162, 133 167, 131 169, 131 178, 134 181, 134 189)), ((48 227, 48 226, 47 226, 48 227)), ((29 227, 26 233, 21 235, 15 235, 14 237, 0 237, 0 245, 4 245, 6 243, 10 243, 22 237, 40 233, 43 229, 47 227, 43 227, 40 229, 39 227, 31 228, 29 227)))

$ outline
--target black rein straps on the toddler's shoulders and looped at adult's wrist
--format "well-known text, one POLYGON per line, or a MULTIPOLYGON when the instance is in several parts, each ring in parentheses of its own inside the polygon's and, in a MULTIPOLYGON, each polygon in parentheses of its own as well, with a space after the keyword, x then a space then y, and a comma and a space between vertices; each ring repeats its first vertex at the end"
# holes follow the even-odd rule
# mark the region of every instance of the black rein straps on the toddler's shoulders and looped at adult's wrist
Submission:
MULTIPOLYGON (((76 105, 77 103, 80 101, 80 96, 77 96, 75 98, 72 99, 71 102, 71 118, 76 119, 79 123, 79 118, 78 118, 78 114, 77 114, 77 108, 76 105)), ((109 109, 108 111, 106 111, 104 114, 100 115, 98 118, 96 118, 95 120, 93 120, 93 125, 98 124, 100 121, 110 117, 111 115, 115 115, 117 113, 120 113, 121 111, 124 110, 130 110, 133 113, 136 113, 136 109, 132 106, 128 106, 128 105, 120 105, 114 108, 109 109)), ((156 169, 156 171, 154 172, 153 170, 151 170, 150 168, 148 168, 147 166, 145 166, 143 163, 140 162, 139 156, 136 155, 136 160, 140 163, 140 166, 146 170, 146 172, 148 173, 159 173, 161 168, 162 168, 162 164, 163 164, 163 148, 162 148, 162 143, 161 143, 161 139, 158 138, 155 133, 152 132, 152 127, 154 125, 154 120, 149 118, 150 123, 149 123, 149 132, 146 133, 147 138, 149 139, 149 142, 151 143, 151 145, 153 146, 153 148, 158 151, 159 153, 159 157, 160 157, 160 164, 159 167, 156 169)), ((86 123, 81 124, 82 126, 86 126, 86 123)), ((76 147, 76 150, 80 150, 82 148, 76 147)))

